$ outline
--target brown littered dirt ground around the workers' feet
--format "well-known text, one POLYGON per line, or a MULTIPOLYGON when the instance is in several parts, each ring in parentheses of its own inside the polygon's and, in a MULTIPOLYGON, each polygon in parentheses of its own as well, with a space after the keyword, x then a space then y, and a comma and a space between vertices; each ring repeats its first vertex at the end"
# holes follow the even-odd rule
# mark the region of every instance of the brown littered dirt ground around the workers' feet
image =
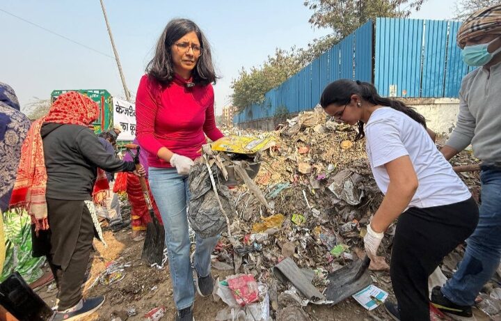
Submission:
MULTIPOLYGON (((90 268, 90 276, 84 288, 84 296, 93 297, 95 295, 105 295, 106 302, 91 317, 90 321, 109 321, 113 319, 113 313, 120 315, 122 320, 127 311, 135 308, 136 315, 130 316, 127 320, 145 320, 145 313, 152 308, 164 306, 166 315, 161 320, 173 320, 175 315, 175 305, 173 302, 173 290, 168 272, 168 265, 164 269, 149 267, 141 261, 141 251, 143 242, 133 242, 130 239, 131 230, 122 230, 118 233, 104 231, 104 238, 108 243, 108 248, 104 248, 101 242, 94 241, 96 251, 90 268), (121 281, 111 285, 102 285, 99 281, 93 288, 88 290, 90 285, 100 275, 106 265, 113 261, 119 263, 130 263, 131 267, 125 267, 125 277, 121 281)), ((214 278, 232 274, 231 271, 223 272, 213 269, 214 278)), ((37 291, 38 295, 49 304, 54 306, 56 300, 56 289, 54 285, 46 285, 37 291), (49 290, 51 289, 51 290, 49 290)), ((221 300, 214 302, 212 296, 196 296, 195 306, 193 308, 195 320, 214 320, 218 311, 225 307, 221 300)), ((367 313, 353 299, 348 299, 335 306, 315 306, 311 305, 305 308, 310 315, 311 320, 389 320, 385 315, 383 308, 378 308, 373 313, 367 313), (372 317, 372 315, 375 316, 372 317)))

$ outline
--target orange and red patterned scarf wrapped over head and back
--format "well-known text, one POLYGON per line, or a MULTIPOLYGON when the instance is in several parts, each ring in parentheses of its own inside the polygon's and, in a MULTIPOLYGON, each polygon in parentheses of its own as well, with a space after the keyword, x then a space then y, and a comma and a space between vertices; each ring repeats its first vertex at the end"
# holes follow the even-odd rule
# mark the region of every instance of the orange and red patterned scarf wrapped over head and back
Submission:
MULTIPOLYGON (((25 208, 31 215, 35 231, 49 229, 47 219, 47 169, 40 130, 44 123, 87 126, 99 116, 98 106, 89 97, 70 91, 60 95, 52 104, 47 116, 35 120, 22 145, 21 160, 17 169, 10 206, 25 208)), ((97 169, 93 196, 109 188, 106 173, 97 169)))

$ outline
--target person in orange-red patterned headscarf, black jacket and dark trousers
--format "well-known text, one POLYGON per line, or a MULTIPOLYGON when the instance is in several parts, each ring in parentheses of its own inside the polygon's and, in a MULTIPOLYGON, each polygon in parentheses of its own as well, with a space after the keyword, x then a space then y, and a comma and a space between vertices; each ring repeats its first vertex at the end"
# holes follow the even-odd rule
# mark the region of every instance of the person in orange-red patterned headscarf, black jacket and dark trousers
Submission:
POLYGON ((31 125, 10 200, 28 210, 33 256, 46 256, 54 273, 59 290, 54 321, 82 318, 104 303, 103 296, 82 299, 81 294, 94 236, 86 202, 108 188, 104 171, 135 170, 133 162, 106 152, 88 128, 97 116, 89 97, 59 96, 47 116, 31 125))

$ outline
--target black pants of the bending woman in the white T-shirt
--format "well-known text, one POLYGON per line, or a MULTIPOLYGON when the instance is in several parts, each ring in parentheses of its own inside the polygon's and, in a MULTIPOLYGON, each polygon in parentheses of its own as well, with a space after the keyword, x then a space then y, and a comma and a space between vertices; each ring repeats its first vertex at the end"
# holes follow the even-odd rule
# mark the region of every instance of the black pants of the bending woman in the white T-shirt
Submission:
POLYGON ((433 208, 409 208, 400 215, 390 267, 400 320, 429 320, 428 277, 475 230, 478 219, 473 198, 433 208))

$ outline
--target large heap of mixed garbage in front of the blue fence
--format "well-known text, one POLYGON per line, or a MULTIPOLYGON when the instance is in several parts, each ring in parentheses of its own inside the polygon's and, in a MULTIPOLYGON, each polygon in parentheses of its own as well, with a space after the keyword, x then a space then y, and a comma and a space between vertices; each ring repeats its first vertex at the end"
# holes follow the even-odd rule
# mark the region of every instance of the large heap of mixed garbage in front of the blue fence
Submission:
MULTIPOLYGON (((246 185, 230 189, 235 203, 230 233, 238 245, 223 233, 214 267, 234 269, 235 274, 253 276, 266 285, 269 314, 276 320, 289 320, 286 315, 309 320, 302 307, 336 302, 329 297, 335 292, 330 285, 332 273, 360 265, 365 226, 383 199, 370 171, 365 140, 355 141, 355 127, 335 122, 321 109, 301 113, 274 132, 237 128, 223 132, 271 138, 274 144, 261 151, 260 171, 254 179, 266 204, 246 185), (285 278, 280 266, 287 266, 285 278)), ((475 162, 469 152, 452 161, 475 162)), ((472 191, 479 190, 478 173, 460 175, 472 191)), ((387 262, 394 233, 395 226, 390 226, 380 250, 387 262)), ((378 276, 390 289, 389 274, 378 276)), ((367 278, 363 282, 370 282, 367 278)), ((262 300, 264 295, 259 297, 262 300)), ((230 310, 218 320, 232 320, 225 319, 228 315, 230 310)))

